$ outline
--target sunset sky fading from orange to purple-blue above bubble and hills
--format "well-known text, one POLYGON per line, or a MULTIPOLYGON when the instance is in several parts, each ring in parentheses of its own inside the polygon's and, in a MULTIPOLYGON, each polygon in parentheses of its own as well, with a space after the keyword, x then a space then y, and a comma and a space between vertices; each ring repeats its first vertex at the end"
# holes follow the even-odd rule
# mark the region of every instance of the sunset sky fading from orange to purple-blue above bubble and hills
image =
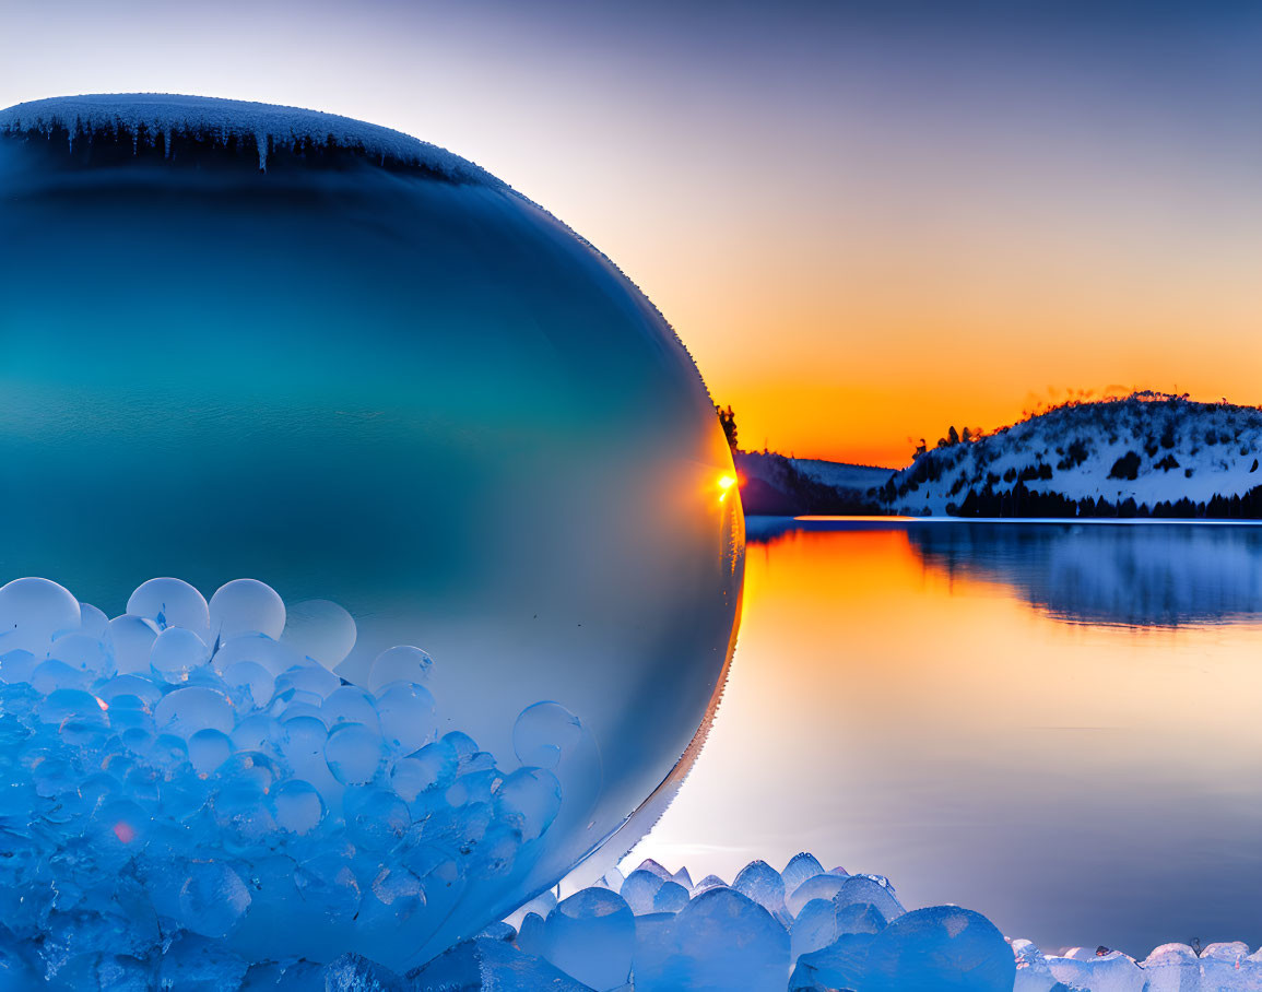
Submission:
POLYGON ((0 0, 0 106, 261 100, 478 162, 649 294, 745 447, 1262 403, 1262 5, 0 0))

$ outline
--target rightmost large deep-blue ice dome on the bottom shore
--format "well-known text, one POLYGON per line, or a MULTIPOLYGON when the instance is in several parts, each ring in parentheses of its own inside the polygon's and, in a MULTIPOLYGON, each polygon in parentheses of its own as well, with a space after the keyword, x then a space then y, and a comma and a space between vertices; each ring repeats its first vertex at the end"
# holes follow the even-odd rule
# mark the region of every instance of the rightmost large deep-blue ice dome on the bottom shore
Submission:
POLYGON ((1012 948, 993 923, 959 906, 930 906, 904 914, 872 938, 862 988, 1012 992, 1015 979, 1012 948))

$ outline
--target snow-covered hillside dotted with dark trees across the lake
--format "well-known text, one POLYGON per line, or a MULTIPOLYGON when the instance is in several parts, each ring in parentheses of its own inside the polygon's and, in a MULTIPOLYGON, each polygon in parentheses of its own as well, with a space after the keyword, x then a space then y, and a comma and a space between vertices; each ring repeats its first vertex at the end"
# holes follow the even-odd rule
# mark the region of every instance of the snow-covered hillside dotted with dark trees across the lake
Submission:
POLYGON ((872 493, 916 516, 1262 517, 1262 410, 1136 394, 919 454, 872 493))

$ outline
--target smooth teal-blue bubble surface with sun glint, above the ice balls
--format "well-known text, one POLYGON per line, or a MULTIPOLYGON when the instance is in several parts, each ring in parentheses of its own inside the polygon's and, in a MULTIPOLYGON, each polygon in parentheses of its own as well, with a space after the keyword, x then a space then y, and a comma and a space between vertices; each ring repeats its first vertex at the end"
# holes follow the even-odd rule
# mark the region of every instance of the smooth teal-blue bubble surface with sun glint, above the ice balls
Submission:
POLYGON ((440 732, 510 767, 516 716, 560 703, 588 732, 586 808, 432 949, 546 887, 675 769, 729 656, 741 512, 683 346, 476 170, 274 144, 261 172, 235 136, 15 120, 0 582, 110 616, 155 576, 331 601, 357 625, 341 675, 419 645, 440 732))

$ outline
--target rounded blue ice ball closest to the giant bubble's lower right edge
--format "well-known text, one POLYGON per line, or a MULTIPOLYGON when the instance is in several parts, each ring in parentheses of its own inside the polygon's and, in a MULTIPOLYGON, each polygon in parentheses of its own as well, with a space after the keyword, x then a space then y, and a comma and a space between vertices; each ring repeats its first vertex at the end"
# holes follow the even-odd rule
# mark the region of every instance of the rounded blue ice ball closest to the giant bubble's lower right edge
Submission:
POLYGON ((544 924, 544 957, 592 988, 617 988, 631 973, 635 918, 607 889, 584 889, 557 905, 544 924))

